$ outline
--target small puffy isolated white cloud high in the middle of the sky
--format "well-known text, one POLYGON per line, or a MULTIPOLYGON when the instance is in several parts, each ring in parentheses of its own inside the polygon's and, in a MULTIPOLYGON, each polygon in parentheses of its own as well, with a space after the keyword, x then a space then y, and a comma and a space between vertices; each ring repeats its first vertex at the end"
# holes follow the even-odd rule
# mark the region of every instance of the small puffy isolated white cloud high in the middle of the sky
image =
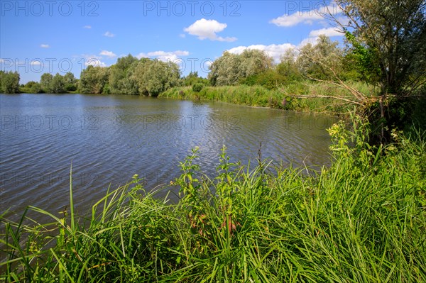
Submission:
POLYGON ((218 36, 216 33, 220 33, 222 30, 226 28, 226 23, 219 23, 216 20, 206 20, 202 18, 201 20, 195 21, 191 26, 184 28, 183 31, 189 33, 190 35, 195 35, 200 40, 204 40, 208 38, 209 40, 218 40, 218 41, 226 41, 232 42, 235 41, 236 38, 226 37, 222 38, 222 36, 218 36))

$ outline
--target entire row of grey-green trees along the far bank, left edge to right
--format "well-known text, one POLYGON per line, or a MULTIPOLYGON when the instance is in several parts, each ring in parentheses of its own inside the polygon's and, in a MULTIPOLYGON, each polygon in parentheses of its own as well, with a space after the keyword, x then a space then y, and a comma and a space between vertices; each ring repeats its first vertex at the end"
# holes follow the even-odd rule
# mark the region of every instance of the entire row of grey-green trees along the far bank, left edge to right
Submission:
MULTIPOLYGON (((20 86, 17 72, 1 72, 1 91, 35 94, 78 91, 87 94, 158 96, 175 86, 197 85, 194 89, 200 90, 206 85, 257 84, 275 89, 288 82, 305 79, 307 75, 324 77, 320 72, 320 64, 312 59, 314 55, 327 60, 333 57, 336 63, 340 62, 342 65, 339 72, 348 72, 344 71, 346 61, 339 43, 321 35, 315 45, 305 45, 299 51, 288 50, 278 64, 262 50, 244 50, 241 54, 225 51, 209 67, 207 79, 199 77, 197 72, 190 72, 186 77, 182 77, 179 66, 174 62, 138 59, 127 55, 120 57, 116 64, 110 67, 89 65, 81 72, 80 79, 76 79, 71 72, 64 75, 45 73, 40 82, 31 81, 20 86)), ((346 67, 349 68, 347 64, 346 67)), ((346 77, 359 79, 356 72, 348 73, 346 77)))

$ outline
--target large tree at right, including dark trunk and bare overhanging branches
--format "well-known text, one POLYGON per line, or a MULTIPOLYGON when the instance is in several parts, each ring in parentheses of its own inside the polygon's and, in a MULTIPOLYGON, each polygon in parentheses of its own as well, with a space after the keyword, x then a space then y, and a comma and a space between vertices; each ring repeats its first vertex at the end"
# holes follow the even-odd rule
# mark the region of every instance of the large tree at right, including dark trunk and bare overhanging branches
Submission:
MULTIPOLYGON (((327 5, 328 5, 327 1, 327 5)), ((348 96, 329 97, 355 104, 373 125, 373 143, 386 143, 393 127, 403 126, 418 99, 426 94, 425 0, 334 0, 329 18, 346 35, 344 60, 329 60, 320 52, 300 50, 315 62, 323 77, 305 77, 346 89, 348 96), (343 16, 342 16, 343 15, 343 16), (360 77, 375 91, 365 93, 348 84, 342 66, 350 60, 360 77), (417 100, 415 100, 417 99, 417 100)), ((330 7, 329 5, 327 7, 330 7)), ((326 17, 327 17, 326 16, 326 17)))

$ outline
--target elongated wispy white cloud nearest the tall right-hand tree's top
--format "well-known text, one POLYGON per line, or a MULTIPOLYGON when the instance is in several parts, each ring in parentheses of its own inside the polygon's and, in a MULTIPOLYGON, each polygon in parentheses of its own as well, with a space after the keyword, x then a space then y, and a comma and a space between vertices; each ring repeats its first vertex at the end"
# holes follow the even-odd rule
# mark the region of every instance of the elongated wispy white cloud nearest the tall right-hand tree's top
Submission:
MULTIPOLYGON (((300 9, 303 8, 304 7, 300 7, 300 9)), ((342 13, 342 11, 334 3, 329 4, 328 6, 323 6, 319 3, 317 5, 314 4, 310 11, 296 11, 290 15, 283 15, 278 18, 273 18, 270 23, 273 23, 276 26, 284 27, 296 26, 299 23, 312 25, 314 21, 323 20, 324 16, 326 16, 328 13, 332 13, 332 15, 336 16, 337 14, 342 13)))

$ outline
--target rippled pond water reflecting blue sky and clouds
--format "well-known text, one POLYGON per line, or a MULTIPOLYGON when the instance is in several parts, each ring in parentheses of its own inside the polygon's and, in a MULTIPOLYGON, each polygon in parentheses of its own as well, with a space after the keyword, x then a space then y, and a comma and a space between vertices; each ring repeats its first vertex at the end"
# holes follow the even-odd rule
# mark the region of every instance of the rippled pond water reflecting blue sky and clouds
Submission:
POLYGON ((70 166, 75 203, 87 209, 133 174, 169 184, 178 162, 200 147, 214 172, 222 145, 232 160, 329 164, 329 116, 231 104, 81 94, 0 94, 0 213, 13 206, 61 211, 70 166))

